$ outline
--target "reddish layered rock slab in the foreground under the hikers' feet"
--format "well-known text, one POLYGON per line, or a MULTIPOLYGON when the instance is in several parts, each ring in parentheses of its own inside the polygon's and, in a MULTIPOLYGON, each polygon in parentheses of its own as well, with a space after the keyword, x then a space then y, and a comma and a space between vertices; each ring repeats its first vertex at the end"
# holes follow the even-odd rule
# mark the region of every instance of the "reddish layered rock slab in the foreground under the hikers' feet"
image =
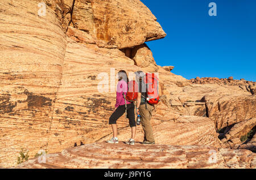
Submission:
POLYGON ((34 158, 15 168, 256 168, 256 155, 246 149, 207 145, 127 145, 94 143, 34 158))

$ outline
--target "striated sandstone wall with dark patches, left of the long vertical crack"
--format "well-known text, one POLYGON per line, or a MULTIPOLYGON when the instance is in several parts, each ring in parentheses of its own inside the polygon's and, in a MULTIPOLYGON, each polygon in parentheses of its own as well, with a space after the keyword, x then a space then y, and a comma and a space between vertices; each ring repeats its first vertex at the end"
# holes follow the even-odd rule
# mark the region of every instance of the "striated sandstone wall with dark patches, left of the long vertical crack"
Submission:
POLYGON ((0 13, 0 166, 6 167, 20 147, 47 142, 67 40, 55 13, 39 17, 35 1, 1 1, 0 13))

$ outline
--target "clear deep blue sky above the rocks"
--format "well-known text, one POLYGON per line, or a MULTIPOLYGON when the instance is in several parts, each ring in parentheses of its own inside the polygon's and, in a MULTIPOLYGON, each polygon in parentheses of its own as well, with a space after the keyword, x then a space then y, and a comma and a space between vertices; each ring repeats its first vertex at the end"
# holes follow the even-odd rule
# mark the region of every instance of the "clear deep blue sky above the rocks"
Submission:
POLYGON ((141 0, 167 36, 146 42, 174 74, 256 82, 256 0, 141 0), (217 16, 209 16, 210 2, 217 16))

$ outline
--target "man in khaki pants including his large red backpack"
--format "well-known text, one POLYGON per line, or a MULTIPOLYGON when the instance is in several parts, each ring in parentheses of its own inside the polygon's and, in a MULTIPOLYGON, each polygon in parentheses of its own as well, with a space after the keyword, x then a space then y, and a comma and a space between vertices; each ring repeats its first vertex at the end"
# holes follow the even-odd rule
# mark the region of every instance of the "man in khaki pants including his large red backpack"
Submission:
POLYGON ((141 125, 144 131, 143 144, 155 144, 154 134, 150 120, 155 104, 159 102, 158 78, 155 74, 135 72, 136 82, 139 86, 137 97, 137 114, 141 115, 141 125))

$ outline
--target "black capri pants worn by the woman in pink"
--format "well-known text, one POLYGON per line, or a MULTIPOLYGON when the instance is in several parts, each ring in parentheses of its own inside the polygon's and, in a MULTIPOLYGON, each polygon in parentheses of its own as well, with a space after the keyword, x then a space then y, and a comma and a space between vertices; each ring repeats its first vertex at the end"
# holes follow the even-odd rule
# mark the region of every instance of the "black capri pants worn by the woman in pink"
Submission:
MULTIPOLYGON (((109 118, 109 125, 117 123, 117 119, 125 113, 125 105, 118 106, 115 112, 109 118)), ((127 104, 127 118, 129 118, 130 127, 136 126, 134 115, 134 104, 127 104)))

